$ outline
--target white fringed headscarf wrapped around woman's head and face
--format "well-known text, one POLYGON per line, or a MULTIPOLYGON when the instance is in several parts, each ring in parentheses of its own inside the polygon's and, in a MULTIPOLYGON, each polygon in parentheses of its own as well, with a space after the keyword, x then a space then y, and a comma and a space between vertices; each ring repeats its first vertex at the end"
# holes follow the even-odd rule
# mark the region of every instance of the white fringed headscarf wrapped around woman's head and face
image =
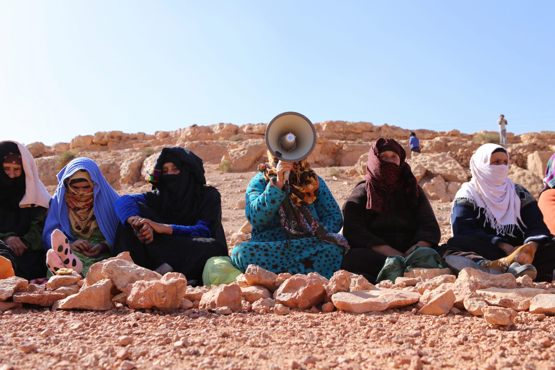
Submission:
MULTIPOLYGON (((484 144, 476 150, 470 159, 472 180, 464 183, 457 191, 455 200, 466 198, 482 209, 486 222, 495 228, 497 235, 512 235, 514 227, 520 229, 520 198, 514 189, 514 183, 507 178, 508 165, 491 165, 494 150, 503 148, 497 144, 484 144)), ((453 202, 453 205, 455 203, 453 202)), ((479 217, 479 216, 478 216, 479 217)))

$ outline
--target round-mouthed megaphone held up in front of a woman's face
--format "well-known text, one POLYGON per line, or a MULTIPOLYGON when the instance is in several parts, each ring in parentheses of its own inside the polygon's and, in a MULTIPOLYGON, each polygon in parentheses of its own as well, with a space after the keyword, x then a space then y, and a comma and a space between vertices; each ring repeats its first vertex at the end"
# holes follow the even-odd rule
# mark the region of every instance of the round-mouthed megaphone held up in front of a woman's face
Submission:
MULTIPOLYGON (((266 146, 281 161, 298 162, 312 153, 316 145, 316 130, 312 122, 300 113, 286 111, 278 114, 266 126, 266 146)), ((284 173, 285 181, 289 171, 284 173)))

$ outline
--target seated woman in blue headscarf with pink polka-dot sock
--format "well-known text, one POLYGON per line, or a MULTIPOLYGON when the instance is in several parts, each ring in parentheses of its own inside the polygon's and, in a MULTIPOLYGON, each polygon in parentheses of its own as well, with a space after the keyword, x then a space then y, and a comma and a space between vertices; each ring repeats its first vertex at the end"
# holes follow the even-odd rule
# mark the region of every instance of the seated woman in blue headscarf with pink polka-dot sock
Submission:
POLYGON ((42 234, 47 267, 85 276, 93 263, 112 257, 118 226, 112 204, 119 195, 89 158, 70 161, 58 181, 42 234))

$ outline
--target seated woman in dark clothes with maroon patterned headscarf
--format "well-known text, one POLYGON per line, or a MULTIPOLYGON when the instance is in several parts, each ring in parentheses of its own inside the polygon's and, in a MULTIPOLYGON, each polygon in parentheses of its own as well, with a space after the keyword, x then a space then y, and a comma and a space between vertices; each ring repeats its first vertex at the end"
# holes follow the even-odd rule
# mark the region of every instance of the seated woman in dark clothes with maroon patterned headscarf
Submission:
POLYGON ((387 257, 406 256, 416 245, 435 247, 441 239, 430 201, 405 158, 397 141, 377 139, 368 153, 365 180, 343 205, 343 235, 351 251, 341 267, 371 282, 387 257))

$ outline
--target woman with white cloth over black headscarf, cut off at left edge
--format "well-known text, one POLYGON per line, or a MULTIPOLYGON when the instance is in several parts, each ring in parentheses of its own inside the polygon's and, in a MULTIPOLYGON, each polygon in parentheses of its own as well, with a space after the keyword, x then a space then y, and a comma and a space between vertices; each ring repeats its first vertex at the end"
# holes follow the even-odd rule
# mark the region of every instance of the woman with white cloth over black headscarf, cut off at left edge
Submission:
POLYGON ((41 236, 51 197, 25 146, 1 141, 0 159, 0 278, 45 277, 41 236))

